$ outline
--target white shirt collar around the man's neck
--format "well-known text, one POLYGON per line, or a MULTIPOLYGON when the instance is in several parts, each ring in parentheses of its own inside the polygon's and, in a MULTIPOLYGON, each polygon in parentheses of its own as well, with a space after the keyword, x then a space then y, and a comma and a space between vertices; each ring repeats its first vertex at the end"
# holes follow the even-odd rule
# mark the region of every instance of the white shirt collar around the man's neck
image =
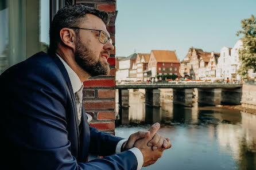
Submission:
POLYGON ((65 62, 58 54, 56 54, 59 58, 60 61, 63 63, 63 65, 65 66, 65 69, 68 72, 68 76, 69 79, 71 81, 71 85, 72 85, 72 89, 73 89, 73 93, 76 93, 81 86, 83 86, 83 83, 80 81, 80 78, 77 76, 77 74, 71 69, 71 67, 69 67, 69 65, 67 64, 67 62, 65 62))

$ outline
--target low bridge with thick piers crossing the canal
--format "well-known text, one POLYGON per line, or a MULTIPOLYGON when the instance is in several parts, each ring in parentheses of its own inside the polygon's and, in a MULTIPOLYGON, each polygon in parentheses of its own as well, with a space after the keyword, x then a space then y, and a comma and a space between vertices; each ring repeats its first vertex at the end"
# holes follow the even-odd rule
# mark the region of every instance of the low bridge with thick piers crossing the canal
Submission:
POLYGON ((198 102, 206 105, 240 105, 243 84, 224 84, 210 82, 160 82, 153 84, 126 83, 116 84, 119 91, 119 106, 129 106, 128 89, 145 89, 145 102, 152 106, 160 106, 160 90, 173 89, 173 103, 192 106, 193 89, 197 88, 198 102))

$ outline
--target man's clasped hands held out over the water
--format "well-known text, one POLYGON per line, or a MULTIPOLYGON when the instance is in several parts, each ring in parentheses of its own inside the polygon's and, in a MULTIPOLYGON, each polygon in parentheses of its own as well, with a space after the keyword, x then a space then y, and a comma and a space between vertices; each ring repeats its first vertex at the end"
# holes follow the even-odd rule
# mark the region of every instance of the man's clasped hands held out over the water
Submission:
POLYGON ((156 122, 149 131, 133 133, 123 144, 123 151, 130 148, 138 148, 143 155, 143 167, 154 164, 161 156, 165 149, 172 147, 169 138, 164 138, 156 132, 160 129, 160 124, 156 122))

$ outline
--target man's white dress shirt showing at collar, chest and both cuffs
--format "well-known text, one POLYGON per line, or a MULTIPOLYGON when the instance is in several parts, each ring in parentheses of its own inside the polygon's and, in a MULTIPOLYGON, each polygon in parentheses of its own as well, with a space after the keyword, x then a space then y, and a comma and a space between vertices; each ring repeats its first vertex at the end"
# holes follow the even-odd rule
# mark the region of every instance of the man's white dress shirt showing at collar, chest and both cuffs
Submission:
MULTIPOLYGON (((73 93, 75 95, 82 95, 83 96, 83 92, 82 92, 82 90, 80 90, 83 87, 83 83, 80 81, 80 78, 77 76, 77 74, 69 67, 69 65, 58 54, 57 54, 57 56, 60 58, 60 61, 63 63, 63 65, 65 66, 65 69, 68 72, 68 76, 69 76, 69 79, 70 79, 70 82, 71 82, 71 85, 72 85, 73 93), (82 93, 82 94, 76 94, 78 91, 79 91, 79 93, 82 93)), ((80 104, 80 102, 76 102, 77 114, 78 114, 77 116, 78 116, 78 121, 79 121, 79 124, 80 124, 81 116, 82 116, 82 110, 80 109, 80 107, 82 107, 82 103, 81 103, 81 105, 79 105, 79 104, 80 104)), ((92 120, 91 115, 87 114, 87 117, 88 117, 88 122, 90 122, 92 120)), ((125 141, 127 141, 127 139, 123 139, 123 140, 118 142, 117 147, 115 149, 115 153, 120 153, 121 152, 122 144, 125 141)), ((135 147, 129 149, 129 151, 133 152, 133 154, 137 158, 137 161, 138 161, 137 170, 141 169, 142 165, 143 165, 143 155, 142 155, 141 151, 139 151, 139 149, 135 148, 135 147)))

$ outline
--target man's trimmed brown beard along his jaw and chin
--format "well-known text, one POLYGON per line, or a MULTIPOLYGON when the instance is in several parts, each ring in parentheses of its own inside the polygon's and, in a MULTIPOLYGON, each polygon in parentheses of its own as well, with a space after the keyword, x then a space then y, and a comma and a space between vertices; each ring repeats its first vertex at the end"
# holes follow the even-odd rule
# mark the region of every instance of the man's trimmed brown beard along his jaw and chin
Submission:
POLYGON ((99 56, 99 61, 96 61, 96 58, 98 57, 94 55, 92 50, 88 49, 85 45, 83 45, 80 41, 80 38, 78 37, 75 52, 75 61, 77 62, 77 64, 92 77, 99 75, 108 75, 110 72, 108 62, 100 60, 101 56, 99 56))

